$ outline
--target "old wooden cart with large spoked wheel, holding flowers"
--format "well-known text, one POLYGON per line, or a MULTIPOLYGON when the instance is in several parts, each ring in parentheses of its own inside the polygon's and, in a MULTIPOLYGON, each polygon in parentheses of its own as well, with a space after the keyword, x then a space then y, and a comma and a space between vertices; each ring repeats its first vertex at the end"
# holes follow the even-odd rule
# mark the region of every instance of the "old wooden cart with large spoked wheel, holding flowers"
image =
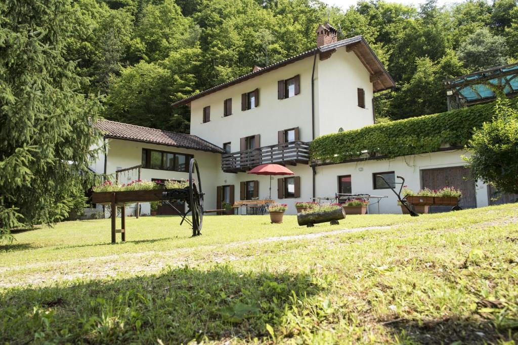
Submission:
POLYGON ((186 188, 128 190, 116 192, 97 192, 92 194, 92 202, 111 205, 111 242, 116 242, 116 233, 121 233, 122 241, 126 240, 125 204, 136 202, 162 201, 175 209, 182 216, 180 225, 185 221, 192 226, 193 236, 201 235, 203 225, 202 180, 198 163, 194 158, 189 163, 189 185, 186 188), (187 204, 187 210, 177 209, 172 202, 181 201, 187 204), (121 229, 116 229, 117 208, 121 208, 121 229), (191 219, 187 216, 191 214, 191 219))

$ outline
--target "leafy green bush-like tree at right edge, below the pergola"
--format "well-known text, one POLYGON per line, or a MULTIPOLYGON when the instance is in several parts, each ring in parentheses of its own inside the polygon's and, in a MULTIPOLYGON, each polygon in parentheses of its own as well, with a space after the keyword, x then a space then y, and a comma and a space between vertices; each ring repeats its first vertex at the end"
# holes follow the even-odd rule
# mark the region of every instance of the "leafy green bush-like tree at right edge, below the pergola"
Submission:
POLYGON ((493 122, 473 133, 467 158, 473 176, 499 191, 518 193, 518 110, 499 98, 493 122))

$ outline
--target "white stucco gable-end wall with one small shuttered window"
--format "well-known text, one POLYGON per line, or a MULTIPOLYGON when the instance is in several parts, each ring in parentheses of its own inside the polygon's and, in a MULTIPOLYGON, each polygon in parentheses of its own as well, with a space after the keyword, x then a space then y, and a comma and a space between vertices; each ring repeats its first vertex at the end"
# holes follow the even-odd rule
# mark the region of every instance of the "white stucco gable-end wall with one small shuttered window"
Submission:
POLYGON ((333 55, 318 61, 318 112, 316 136, 362 128, 374 123, 370 74, 353 52, 338 48, 333 55), (358 107, 357 89, 365 91, 365 109, 358 107))

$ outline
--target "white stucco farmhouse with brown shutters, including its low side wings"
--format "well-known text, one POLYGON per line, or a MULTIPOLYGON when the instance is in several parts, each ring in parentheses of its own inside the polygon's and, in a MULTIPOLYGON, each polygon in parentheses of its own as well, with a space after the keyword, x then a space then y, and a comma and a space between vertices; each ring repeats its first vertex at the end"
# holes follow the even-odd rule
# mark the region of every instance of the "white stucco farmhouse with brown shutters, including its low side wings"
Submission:
MULTIPOLYGON (((337 41, 326 24, 318 47, 173 104, 191 108, 191 134, 104 121, 106 159, 97 172, 142 164, 143 179, 187 178, 185 161, 195 157, 202 172, 205 209, 223 202, 269 197, 269 176, 247 174, 261 163, 285 164, 295 175, 272 177, 271 198, 295 214, 296 201, 335 193, 386 196, 370 213, 400 213, 393 192, 374 176, 401 175, 413 190, 461 188, 462 207, 486 206, 488 188, 477 187, 463 168, 463 150, 310 166, 308 143, 324 134, 374 123, 373 94, 394 86, 361 36, 337 41), (467 179, 466 179, 466 178, 467 179)), ((135 179, 135 176, 127 176, 135 179)), ((124 181, 122 181, 124 182, 124 181)), ((371 201, 375 201, 374 199, 371 201)), ((143 208, 143 213, 149 208, 143 208)))

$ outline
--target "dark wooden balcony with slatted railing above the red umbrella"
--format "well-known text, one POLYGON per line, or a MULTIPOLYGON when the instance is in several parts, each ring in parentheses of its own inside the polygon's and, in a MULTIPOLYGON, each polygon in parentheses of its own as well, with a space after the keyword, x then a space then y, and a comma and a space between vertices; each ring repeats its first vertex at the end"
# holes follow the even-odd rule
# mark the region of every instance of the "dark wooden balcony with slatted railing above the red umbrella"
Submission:
POLYGON ((263 146, 233 153, 223 154, 221 169, 224 172, 246 172, 260 164, 276 163, 296 165, 309 163, 309 145, 301 141, 263 146))

